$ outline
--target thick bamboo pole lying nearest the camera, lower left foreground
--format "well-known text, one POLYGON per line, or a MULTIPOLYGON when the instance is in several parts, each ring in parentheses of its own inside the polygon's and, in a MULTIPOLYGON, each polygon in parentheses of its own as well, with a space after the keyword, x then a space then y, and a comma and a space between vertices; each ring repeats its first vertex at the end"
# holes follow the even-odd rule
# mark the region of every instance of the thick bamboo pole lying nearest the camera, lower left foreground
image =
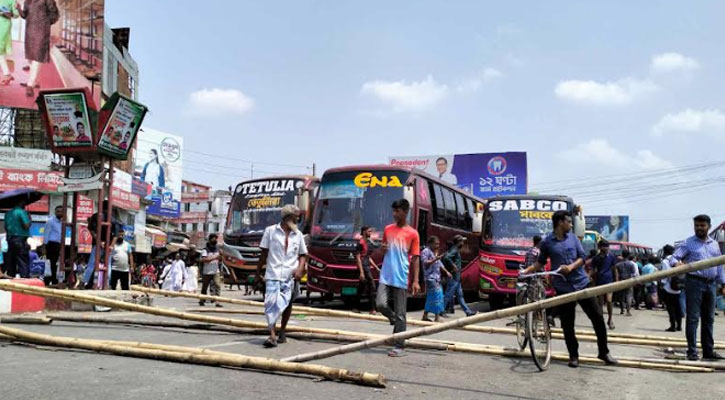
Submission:
POLYGON ((129 342, 114 343, 109 341, 50 336, 27 332, 20 329, 8 328, 5 326, 0 326, 0 333, 14 337, 16 340, 23 342, 90 350, 99 353, 109 353, 127 357, 149 358, 217 367, 237 367, 259 371, 306 374, 365 386, 385 387, 385 377, 382 375, 330 368, 323 365, 289 363, 271 358, 250 357, 238 354, 215 352, 211 350, 205 351, 204 349, 194 350, 190 348, 182 348, 180 346, 139 344, 138 342, 130 342, 131 345, 128 345, 122 343, 129 342))

